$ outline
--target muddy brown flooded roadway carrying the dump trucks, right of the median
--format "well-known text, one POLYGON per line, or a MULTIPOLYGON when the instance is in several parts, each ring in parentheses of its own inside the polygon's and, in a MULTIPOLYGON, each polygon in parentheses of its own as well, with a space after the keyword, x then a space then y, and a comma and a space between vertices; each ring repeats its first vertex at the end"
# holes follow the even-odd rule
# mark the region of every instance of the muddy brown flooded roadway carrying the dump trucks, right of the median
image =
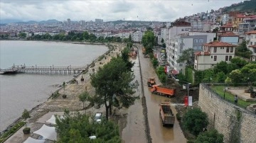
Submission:
MULTIPOLYGON (((149 87, 146 82, 150 77, 154 77, 156 79, 156 84, 160 84, 154 68, 151 65, 150 59, 144 57, 142 54, 142 47, 139 48, 139 60, 142 68, 142 80, 143 80, 143 88, 144 88, 144 96, 146 97, 146 107, 148 112, 148 120, 149 120, 149 129, 151 135, 152 142, 186 142, 186 138, 183 135, 181 127, 178 124, 178 120, 175 121, 174 127, 163 127, 161 124, 161 118, 159 117, 159 103, 171 101, 171 98, 166 98, 164 96, 158 96, 151 94, 149 91, 149 87)), ((174 106, 171 107, 176 115, 176 109, 174 106)))

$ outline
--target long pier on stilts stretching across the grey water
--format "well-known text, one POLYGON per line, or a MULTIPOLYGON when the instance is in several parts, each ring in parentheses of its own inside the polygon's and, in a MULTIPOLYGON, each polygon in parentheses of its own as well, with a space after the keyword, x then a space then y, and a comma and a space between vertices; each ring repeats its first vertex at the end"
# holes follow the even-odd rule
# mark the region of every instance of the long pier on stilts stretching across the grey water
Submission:
POLYGON ((85 71, 86 67, 26 67, 24 65, 12 66, 7 69, 0 69, 0 74, 17 74, 17 73, 27 73, 27 74, 80 74, 80 72, 85 71))

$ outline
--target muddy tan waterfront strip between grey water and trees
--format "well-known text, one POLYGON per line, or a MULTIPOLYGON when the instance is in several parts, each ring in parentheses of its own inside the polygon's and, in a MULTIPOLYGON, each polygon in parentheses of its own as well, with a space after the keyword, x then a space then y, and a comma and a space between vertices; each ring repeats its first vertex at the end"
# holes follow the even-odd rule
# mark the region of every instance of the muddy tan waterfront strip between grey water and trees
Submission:
MULTIPOLYGON (((49 98, 48 101, 45 103, 42 103, 41 105, 37 105, 35 108, 33 108, 30 112, 31 118, 27 120, 28 127, 31 127, 31 134, 30 135, 24 135, 22 130, 23 127, 21 127, 18 132, 16 132, 14 135, 9 137, 9 139, 6 140, 6 142, 24 142, 28 137, 37 138, 38 135, 34 135, 32 132, 38 130, 43 123, 46 123, 45 121, 48 120, 51 115, 62 115, 63 110, 68 109, 70 111, 81 111, 85 112, 82 108, 82 102, 79 101, 78 96, 83 91, 88 91, 91 95, 95 94, 95 89, 90 85, 90 74, 93 72, 97 72, 97 69, 99 67, 102 67, 104 64, 107 64, 107 62, 110 62, 110 59, 112 57, 116 57, 119 55, 122 51, 122 49, 125 47, 124 44, 112 44, 114 47, 114 50, 110 50, 106 52, 103 56, 105 58, 100 58, 101 60, 95 59, 94 64, 90 64, 87 68, 88 70, 78 74, 78 76, 75 76, 74 79, 78 82, 75 82, 71 84, 71 82, 68 82, 64 88, 58 89, 58 93, 60 93, 60 96, 57 98, 49 98), (81 78, 84 78, 85 81, 81 81, 81 78), (65 95, 67 95, 66 98, 63 98, 63 94, 65 92, 65 95)), ((85 102, 85 106, 88 106, 89 103, 85 102)), ((86 113, 88 114, 94 114, 96 112, 102 112, 105 114, 105 108, 101 106, 99 109, 96 108, 87 108, 86 113)), ((120 127, 120 135, 122 135, 122 128, 125 127, 125 120, 127 115, 127 110, 114 110, 114 115, 118 115, 117 118, 113 118, 114 121, 116 121, 119 124, 120 127)))

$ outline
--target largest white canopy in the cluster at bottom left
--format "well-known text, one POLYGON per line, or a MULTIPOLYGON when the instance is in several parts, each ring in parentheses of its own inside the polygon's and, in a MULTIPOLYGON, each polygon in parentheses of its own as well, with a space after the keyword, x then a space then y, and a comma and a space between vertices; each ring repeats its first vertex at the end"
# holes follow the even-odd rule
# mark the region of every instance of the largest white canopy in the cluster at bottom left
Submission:
POLYGON ((43 136, 43 139, 57 140, 57 132, 55 131, 55 127, 49 127, 45 124, 39 130, 33 133, 43 136))

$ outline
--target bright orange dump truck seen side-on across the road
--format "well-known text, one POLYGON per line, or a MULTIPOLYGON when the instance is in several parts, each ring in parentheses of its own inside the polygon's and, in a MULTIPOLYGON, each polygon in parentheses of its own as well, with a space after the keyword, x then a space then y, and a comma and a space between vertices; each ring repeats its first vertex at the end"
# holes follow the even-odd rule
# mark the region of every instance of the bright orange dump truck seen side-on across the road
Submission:
POLYGON ((153 85, 150 89, 151 93, 159 94, 161 96, 171 97, 175 96, 176 88, 169 86, 153 85))

